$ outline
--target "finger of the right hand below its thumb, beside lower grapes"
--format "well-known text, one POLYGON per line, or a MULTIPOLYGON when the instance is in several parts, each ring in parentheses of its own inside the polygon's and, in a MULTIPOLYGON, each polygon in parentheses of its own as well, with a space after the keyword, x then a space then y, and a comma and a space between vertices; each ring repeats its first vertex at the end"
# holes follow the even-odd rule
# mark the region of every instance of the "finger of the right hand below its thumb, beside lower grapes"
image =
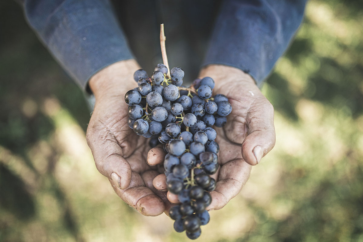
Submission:
POLYGON ((229 161, 220 168, 216 189, 211 192, 212 203, 207 210, 223 208, 242 189, 250 174, 251 166, 244 160, 229 161))

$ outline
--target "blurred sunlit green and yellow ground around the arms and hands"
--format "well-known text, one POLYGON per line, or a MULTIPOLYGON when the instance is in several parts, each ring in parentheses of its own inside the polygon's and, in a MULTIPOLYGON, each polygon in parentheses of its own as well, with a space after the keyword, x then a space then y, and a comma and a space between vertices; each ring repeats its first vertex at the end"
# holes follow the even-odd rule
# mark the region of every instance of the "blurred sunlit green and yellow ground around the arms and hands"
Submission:
MULTIPOLYGON (((363 2, 311 0, 262 87, 276 146, 199 241, 363 241, 363 2)), ((95 168, 82 91, 0 1, 0 241, 188 241, 95 168)))

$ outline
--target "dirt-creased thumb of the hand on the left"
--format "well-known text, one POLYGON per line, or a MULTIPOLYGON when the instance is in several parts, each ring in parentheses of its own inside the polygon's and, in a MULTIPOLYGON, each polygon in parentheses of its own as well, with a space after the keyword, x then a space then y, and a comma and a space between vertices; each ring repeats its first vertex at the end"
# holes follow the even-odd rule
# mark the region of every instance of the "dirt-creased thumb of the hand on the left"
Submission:
POLYGON ((90 125, 86 136, 98 171, 113 180, 118 188, 127 188, 131 181, 131 167, 122 157, 122 149, 111 132, 90 125))

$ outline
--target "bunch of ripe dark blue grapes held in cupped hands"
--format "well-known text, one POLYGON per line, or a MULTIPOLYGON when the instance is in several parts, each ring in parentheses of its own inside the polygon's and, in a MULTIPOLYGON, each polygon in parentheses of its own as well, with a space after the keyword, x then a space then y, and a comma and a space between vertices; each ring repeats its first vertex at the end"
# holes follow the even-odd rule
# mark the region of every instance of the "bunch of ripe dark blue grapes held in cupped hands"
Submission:
POLYGON ((212 97, 212 78, 196 79, 186 88, 181 68, 171 69, 170 78, 167 73, 163 64, 155 67, 151 77, 142 69, 135 72, 139 87, 125 95, 128 123, 136 134, 151 138, 151 147, 164 144, 167 188, 181 203, 169 215, 177 232, 186 230, 188 238, 196 239, 200 226, 209 222, 205 208, 212 202, 209 192, 216 187, 210 175, 219 167, 217 132, 212 126, 223 127, 232 107, 224 95, 212 97))

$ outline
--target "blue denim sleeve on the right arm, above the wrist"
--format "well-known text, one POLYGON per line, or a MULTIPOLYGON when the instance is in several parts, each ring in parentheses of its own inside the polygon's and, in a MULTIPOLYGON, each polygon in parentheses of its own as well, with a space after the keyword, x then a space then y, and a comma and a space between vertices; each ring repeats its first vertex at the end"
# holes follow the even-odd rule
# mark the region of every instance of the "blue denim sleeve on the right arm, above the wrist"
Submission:
POLYGON ((237 67, 261 85, 303 19, 306 0, 226 0, 203 62, 237 67))

